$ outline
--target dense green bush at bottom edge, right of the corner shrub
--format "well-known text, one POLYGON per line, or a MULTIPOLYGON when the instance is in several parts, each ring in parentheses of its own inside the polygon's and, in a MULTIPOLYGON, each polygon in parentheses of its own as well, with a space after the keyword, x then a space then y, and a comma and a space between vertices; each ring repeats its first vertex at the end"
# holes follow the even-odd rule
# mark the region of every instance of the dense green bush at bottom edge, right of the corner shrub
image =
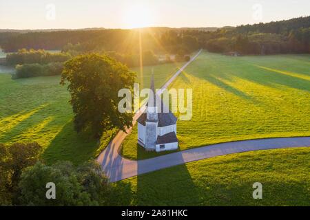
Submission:
POLYGON ((47 166, 38 162, 27 168, 19 182, 23 206, 108 206, 113 188, 96 162, 75 168, 70 162, 47 166), (46 199, 48 182, 56 186, 56 199, 46 199))

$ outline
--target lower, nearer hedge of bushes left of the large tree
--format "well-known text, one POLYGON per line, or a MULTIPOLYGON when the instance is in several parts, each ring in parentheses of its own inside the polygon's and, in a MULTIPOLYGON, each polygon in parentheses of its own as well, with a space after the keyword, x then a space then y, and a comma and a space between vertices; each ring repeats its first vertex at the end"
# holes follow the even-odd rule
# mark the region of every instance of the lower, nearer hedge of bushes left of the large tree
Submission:
POLYGON ((63 71, 63 63, 49 63, 41 65, 39 63, 24 64, 16 66, 16 74, 12 78, 29 78, 36 76, 55 76, 63 71))

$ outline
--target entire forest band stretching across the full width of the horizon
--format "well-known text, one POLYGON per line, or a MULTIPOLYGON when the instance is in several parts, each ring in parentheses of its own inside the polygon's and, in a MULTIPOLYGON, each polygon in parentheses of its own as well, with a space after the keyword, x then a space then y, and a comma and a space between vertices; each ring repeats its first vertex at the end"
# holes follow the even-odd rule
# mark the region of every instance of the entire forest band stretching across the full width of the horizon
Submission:
POLYGON ((134 56, 140 50, 154 54, 189 54, 198 48, 241 54, 310 52, 310 17, 219 28, 216 31, 145 28, 32 32, 6 34, 6 37, 1 37, 1 34, 0 46, 6 52, 16 52, 21 48, 63 50, 73 56, 86 52, 115 52, 114 56, 130 66, 136 65, 138 58, 134 56))

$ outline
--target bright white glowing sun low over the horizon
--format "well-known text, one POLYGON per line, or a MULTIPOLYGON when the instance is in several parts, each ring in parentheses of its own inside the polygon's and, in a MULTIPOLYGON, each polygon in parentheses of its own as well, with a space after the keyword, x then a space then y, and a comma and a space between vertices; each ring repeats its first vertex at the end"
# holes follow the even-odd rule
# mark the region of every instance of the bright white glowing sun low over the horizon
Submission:
POLYGON ((154 24, 152 10, 143 5, 132 5, 124 16, 126 28, 146 28, 154 24))

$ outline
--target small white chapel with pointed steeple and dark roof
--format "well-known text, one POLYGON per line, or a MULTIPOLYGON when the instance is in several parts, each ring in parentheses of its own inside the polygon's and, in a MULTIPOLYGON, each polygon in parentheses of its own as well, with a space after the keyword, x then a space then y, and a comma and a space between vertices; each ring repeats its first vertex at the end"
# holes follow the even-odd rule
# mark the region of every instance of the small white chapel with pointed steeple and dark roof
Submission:
POLYGON ((147 102, 146 112, 138 118, 138 144, 147 151, 172 151, 178 148, 176 137, 176 116, 167 109, 163 100, 156 96, 154 76, 151 89, 153 98, 147 102), (163 111, 163 110, 167 111, 163 111), (158 111, 161 110, 161 111, 158 111))

